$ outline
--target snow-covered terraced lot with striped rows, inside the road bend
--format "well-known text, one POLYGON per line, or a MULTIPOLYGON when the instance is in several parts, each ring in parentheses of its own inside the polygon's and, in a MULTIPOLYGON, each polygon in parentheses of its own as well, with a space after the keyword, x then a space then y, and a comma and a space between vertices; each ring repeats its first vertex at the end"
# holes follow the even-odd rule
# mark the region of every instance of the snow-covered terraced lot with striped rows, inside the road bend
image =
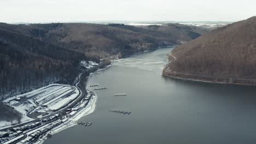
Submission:
MULTIPOLYGON (((58 110, 77 98, 79 90, 69 85, 51 84, 31 92, 4 100, 5 103, 22 113, 21 122, 33 120, 28 114, 58 110)), ((50 112, 51 113, 51 112, 50 112)), ((43 115, 43 114, 42 114, 43 115)))

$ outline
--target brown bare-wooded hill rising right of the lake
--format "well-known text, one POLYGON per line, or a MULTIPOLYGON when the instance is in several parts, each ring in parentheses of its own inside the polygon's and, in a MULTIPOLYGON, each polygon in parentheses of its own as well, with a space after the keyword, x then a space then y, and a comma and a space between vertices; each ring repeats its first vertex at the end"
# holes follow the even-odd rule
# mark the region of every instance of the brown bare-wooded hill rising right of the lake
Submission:
POLYGON ((225 83, 256 84, 256 17, 202 35, 174 49, 172 55, 176 60, 170 56, 172 62, 164 70, 165 75, 225 83))

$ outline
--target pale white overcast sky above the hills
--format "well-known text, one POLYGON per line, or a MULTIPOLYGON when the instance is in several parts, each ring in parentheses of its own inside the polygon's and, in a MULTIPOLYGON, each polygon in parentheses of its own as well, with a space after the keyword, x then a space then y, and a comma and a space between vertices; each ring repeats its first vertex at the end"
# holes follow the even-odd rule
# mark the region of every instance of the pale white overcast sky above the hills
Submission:
POLYGON ((239 21, 256 0, 0 0, 0 22, 239 21))

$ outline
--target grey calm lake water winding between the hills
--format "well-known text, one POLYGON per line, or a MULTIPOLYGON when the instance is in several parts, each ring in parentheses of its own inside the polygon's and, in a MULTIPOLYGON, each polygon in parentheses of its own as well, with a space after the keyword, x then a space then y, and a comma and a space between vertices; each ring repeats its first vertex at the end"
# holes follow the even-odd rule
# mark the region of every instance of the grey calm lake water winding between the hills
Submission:
POLYGON ((162 77, 171 49, 97 71, 89 83, 108 89, 97 92, 96 111, 79 120, 92 125, 76 125, 44 143, 256 143, 256 88, 162 77), (113 96, 121 92, 127 97, 113 96))

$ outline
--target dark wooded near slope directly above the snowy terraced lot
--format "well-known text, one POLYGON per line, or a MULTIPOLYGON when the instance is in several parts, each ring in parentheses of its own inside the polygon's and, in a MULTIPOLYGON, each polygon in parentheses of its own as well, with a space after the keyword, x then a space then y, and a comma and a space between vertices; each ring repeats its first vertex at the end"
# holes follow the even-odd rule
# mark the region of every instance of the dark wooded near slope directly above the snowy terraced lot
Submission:
POLYGON ((0 29, 0 95, 31 91, 54 81, 72 83, 84 53, 0 29))

